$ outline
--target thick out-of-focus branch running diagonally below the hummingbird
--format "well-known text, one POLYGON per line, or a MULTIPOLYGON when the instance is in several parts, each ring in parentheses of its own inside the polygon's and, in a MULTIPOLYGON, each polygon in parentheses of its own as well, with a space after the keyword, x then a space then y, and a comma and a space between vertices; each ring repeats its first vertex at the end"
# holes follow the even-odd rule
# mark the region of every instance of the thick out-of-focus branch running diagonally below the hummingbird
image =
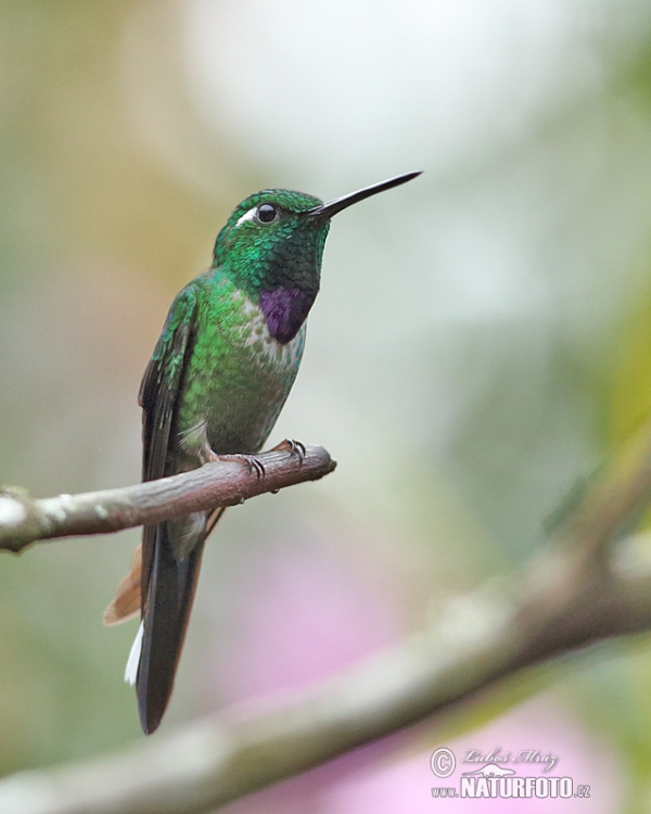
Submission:
POLYGON ((0 811, 208 812, 544 659, 649 629, 651 563, 631 561, 635 538, 621 539, 651 499, 651 446, 644 440, 642 454, 636 449, 636 460, 593 486, 506 588, 449 600, 422 633, 275 709, 227 711, 119 756, 0 781, 0 811))

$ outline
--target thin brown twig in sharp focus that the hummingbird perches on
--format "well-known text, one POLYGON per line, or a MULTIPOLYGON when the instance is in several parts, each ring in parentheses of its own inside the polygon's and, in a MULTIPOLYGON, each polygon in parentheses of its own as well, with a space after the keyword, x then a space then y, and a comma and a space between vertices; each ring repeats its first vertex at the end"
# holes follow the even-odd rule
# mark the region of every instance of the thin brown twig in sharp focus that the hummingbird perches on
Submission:
POLYGON ((0 492, 0 549, 18 552, 39 539, 105 534, 192 511, 234 506, 265 492, 316 481, 336 466, 318 446, 306 446, 303 456, 272 450, 256 458, 265 469, 261 476, 255 469, 229 461, 206 463, 192 472, 136 486, 44 499, 4 487, 0 492))

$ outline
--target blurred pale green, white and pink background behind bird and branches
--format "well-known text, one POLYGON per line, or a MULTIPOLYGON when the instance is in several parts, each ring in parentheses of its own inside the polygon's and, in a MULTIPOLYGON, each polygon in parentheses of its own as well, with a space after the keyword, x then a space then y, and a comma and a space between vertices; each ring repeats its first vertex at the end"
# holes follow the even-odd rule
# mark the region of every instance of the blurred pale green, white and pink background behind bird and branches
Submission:
MULTIPOLYGON (((233 206, 410 169, 333 221, 271 438, 339 469, 227 513, 161 737, 508 574, 648 415, 651 9, 0 3, 0 482, 137 482, 140 377, 233 206)), ((2 774, 142 738, 122 678, 137 625, 101 624, 138 539, 0 557, 2 774)), ((552 752, 591 812, 648 811, 650 688, 648 637, 601 645, 228 811, 431 811, 441 745, 552 752)))

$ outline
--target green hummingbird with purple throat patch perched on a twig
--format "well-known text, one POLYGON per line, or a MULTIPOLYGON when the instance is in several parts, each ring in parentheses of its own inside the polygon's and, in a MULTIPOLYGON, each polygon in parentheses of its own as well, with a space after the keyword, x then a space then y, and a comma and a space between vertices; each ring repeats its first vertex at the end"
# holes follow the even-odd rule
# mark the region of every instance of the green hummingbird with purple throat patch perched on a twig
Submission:
MULTIPOLYGON (((217 236, 210 268, 176 296, 140 385, 142 480, 209 461, 256 469, 296 378, 333 215, 420 175, 390 178, 323 203, 266 189, 240 203, 217 236)), ((286 444, 290 451, 301 445, 286 444)), ((145 735, 169 702, 204 544, 225 508, 145 525, 129 574, 104 613, 140 612, 125 678, 145 735)))

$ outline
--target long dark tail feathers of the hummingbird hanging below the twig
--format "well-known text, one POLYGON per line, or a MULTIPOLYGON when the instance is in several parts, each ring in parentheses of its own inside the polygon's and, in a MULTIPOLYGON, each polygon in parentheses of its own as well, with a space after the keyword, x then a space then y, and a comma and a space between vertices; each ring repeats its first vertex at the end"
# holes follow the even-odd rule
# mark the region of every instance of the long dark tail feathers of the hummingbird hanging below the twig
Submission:
POLYGON ((140 723, 151 735, 161 723, 192 610, 205 536, 188 556, 175 558, 168 524, 156 529, 136 690, 140 723))

